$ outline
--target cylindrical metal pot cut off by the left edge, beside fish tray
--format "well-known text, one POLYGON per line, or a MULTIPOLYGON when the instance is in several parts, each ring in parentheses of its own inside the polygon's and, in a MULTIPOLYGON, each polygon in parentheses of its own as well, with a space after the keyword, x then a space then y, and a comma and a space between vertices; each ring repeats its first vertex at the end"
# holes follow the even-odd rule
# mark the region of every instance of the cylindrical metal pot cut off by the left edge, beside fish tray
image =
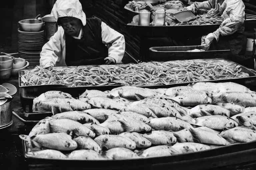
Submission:
POLYGON ((0 129, 12 124, 12 100, 9 99, 5 104, 0 106, 0 129))

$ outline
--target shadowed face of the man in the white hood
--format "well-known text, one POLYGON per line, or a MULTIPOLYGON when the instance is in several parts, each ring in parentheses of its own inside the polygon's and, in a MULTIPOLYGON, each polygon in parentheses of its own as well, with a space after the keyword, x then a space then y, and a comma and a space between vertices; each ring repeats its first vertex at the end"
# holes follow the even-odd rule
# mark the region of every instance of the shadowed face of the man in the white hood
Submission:
POLYGON ((61 18, 60 24, 64 29, 65 33, 70 36, 78 36, 82 28, 81 21, 74 17, 61 18))

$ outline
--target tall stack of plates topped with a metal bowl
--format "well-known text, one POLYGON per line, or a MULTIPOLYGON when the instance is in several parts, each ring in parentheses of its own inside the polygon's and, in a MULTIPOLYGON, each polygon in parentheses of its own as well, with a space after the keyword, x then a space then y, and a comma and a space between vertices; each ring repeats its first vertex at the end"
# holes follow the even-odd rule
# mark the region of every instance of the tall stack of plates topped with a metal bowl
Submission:
POLYGON ((29 68, 40 65, 40 52, 44 45, 43 21, 28 19, 19 21, 18 52, 29 62, 29 68))

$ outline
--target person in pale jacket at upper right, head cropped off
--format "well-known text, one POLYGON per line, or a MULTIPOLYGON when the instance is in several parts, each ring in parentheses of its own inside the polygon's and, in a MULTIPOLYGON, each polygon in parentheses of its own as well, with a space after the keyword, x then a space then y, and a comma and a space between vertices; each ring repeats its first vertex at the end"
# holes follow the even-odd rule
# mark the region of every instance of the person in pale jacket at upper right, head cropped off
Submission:
POLYGON ((207 0, 195 2, 187 7, 193 13, 200 9, 213 10, 221 15, 224 21, 213 33, 202 37, 202 45, 209 50, 231 49, 237 62, 245 60, 241 57, 245 53, 246 38, 244 35, 245 5, 242 0, 207 0))

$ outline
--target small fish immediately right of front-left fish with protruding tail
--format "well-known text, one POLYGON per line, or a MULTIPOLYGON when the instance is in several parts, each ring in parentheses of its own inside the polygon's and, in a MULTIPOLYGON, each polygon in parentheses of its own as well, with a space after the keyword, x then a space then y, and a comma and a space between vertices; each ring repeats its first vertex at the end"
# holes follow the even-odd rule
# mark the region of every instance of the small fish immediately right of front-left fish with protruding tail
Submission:
POLYGON ((77 149, 91 149, 101 153, 101 148, 92 138, 79 136, 73 139, 77 143, 77 149))

